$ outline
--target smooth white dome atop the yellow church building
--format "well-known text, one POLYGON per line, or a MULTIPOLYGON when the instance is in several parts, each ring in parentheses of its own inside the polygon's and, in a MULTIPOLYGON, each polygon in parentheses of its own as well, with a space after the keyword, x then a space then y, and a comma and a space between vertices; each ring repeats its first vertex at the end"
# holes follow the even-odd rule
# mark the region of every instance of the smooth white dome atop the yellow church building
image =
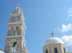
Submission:
POLYGON ((61 39, 57 37, 51 37, 50 39, 46 41, 45 46, 49 44, 59 44, 59 43, 64 44, 64 42, 61 39))

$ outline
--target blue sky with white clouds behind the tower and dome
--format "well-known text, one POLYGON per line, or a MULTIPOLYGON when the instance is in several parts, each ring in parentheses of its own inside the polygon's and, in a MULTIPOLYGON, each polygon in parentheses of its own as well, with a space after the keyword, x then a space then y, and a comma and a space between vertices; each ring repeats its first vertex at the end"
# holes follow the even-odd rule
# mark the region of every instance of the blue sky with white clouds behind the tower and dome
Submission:
POLYGON ((7 21, 17 3, 24 13, 29 53, 43 53, 52 32, 64 41, 68 52, 72 52, 72 0, 0 0, 0 49, 5 48, 7 21))

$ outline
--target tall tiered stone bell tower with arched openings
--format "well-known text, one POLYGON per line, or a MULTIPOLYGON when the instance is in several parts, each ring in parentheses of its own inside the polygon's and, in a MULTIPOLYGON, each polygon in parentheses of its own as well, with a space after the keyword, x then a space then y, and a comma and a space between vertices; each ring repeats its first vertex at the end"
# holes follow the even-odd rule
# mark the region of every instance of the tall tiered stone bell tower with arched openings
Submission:
POLYGON ((16 7, 10 15, 8 34, 6 36, 5 53, 28 53, 25 47, 25 30, 23 11, 16 7))

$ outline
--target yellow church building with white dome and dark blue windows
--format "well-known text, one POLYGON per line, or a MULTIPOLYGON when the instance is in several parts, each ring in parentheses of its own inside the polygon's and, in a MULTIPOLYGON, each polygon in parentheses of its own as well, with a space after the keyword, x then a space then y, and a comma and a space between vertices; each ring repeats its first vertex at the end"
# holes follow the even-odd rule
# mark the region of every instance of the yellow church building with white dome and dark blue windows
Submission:
POLYGON ((45 42, 43 53, 67 53, 67 46, 61 39, 51 37, 45 42))

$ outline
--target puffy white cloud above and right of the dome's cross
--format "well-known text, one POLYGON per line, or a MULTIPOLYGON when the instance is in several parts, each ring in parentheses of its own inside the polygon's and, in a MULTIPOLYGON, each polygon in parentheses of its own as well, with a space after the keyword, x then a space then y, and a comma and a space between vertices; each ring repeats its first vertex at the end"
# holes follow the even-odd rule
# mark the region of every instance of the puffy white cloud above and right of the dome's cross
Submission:
POLYGON ((59 31, 59 32, 69 32, 72 30, 72 24, 69 23, 68 25, 62 24, 61 27, 58 27, 54 31, 59 31))

